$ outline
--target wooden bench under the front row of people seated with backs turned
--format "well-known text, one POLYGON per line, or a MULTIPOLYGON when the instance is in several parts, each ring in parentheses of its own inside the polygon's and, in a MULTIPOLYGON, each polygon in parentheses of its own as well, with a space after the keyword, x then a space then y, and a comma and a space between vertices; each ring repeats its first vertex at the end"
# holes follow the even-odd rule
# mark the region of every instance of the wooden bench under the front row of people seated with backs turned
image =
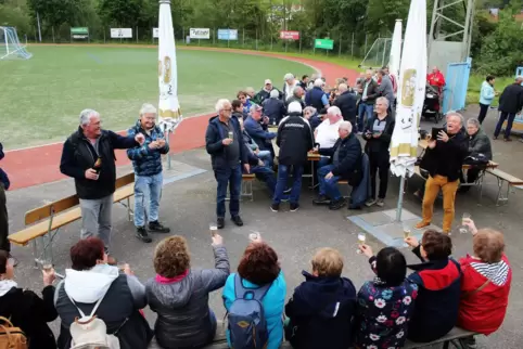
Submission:
MULTIPOLYGON (((228 349, 227 345, 227 338, 226 338, 226 327, 224 326, 222 321, 218 321, 217 327, 216 327, 216 336, 215 339, 213 340, 213 344, 205 346, 205 349, 228 349)), ((431 342, 413 342, 410 340, 407 340, 405 342, 404 348, 405 349, 417 349, 417 348, 424 348, 428 346, 433 346, 433 345, 441 345, 443 344, 443 349, 448 349, 449 346, 452 344, 456 348, 460 349, 461 346, 457 345, 456 341, 460 338, 467 338, 470 336, 476 335, 476 333, 469 332, 459 327, 454 327, 446 336, 443 336, 439 339, 436 339, 431 342)), ((151 348, 151 347, 150 347, 151 348)), ((280 346, 280 348, 288 349, 292 348, 291 344, 289 341, 283 341, 280 346)), ((327 349, 327 348, 326 348, 327 349)))

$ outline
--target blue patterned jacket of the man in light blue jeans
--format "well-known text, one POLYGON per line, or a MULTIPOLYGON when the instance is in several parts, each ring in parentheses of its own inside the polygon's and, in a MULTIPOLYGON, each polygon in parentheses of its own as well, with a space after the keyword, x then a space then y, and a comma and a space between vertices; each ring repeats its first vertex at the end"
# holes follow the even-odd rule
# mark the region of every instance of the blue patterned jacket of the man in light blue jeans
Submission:
POLYGON ((127 150, 127 157, 132 160, 135 173, 137 176, 158 174, 162 172, 162 154, 167 154, 169 152, 169 145, 165 143, 164 147, 152 150, 149 147, 149 144, 160 139, 164 140, 164 133, 160 127, 155 126, 151 130, 151 134, 148 134, 148 132, 142 129, 140 120, 137 121, 135 127, 131 127, 127 131, 127 134, 131 137, 135 137, 138 133, 142 133, 145 137, 145 142, 141 146, 127 150))

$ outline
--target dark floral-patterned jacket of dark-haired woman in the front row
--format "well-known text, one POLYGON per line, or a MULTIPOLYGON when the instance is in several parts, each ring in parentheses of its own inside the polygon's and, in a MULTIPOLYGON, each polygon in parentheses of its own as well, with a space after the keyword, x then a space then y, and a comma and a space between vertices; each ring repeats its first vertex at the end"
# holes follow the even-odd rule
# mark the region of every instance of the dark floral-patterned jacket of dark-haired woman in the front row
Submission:
POLYGON ((403 348, 418 286, 388 286, 378 276, 361 286, 355 319, 355 344, 361 349, 403 348))

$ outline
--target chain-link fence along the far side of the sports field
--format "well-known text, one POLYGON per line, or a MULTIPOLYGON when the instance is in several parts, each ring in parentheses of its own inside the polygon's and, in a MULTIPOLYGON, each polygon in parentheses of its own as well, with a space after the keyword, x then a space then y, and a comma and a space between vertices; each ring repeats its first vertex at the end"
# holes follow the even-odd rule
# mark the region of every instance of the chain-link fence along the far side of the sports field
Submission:
MULTIPOLYGON (((82 27, 84 28, 84 27, 82 27)), ((26 35, 28 42, 44 42, 44 43, 122 43, 122 44, 156 44, 157 38, 154 38, 154 28, 132 27, 125 28, 131 31, 130 37, 114 37, 111 35, 110 27, 85 27, 88 29, 88 35, 78 35, 72 33, 72 27, 63 25, 60 28, 48 28, 40 34, 37 28, 34 33, 26 35)), ((113 28, 114 30, 114 28, 113 28)), ((178 46, 192 47, 217 47, 230 49, 245 49, 257 51, 275 51, 288 53, 306 53, 323 56, 343 56, 354 60, 362 60, 368 51, 373 46, 374 41, 379 39, 377 35, 357 34, 357 33, 339 33, 339 34, 322 34, 322 33, 299 33, 299 37, 291 39, 280 39, 280 33, 267 34, 258 33, 257 30, 239 28, 237 40, 222 40, 218 36, 218 28, 208 28, 208 39, 191 39, 190 28, 181 27, 175 28, 175 38, 178 46), (329 37, 334 44, 332 50, 315 48, 315 39, 323 39, 329 37)), ((23 38, 21 37, 21 40, 23 38)))

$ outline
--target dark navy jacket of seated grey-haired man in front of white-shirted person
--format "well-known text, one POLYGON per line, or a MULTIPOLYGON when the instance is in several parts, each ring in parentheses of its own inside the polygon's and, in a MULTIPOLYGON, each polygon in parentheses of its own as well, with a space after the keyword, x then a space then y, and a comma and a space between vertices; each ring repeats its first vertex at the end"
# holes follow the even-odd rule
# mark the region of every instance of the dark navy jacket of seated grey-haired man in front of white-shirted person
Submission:
POLYGON ((320 148, 319 153, 320 155, 330 156, 332 164, 332 158, 339 146, 341 147, 339 153, 340 164, 332 169, 332 174, 346 179, 357 166, 361 166, 361 144, 358 138, 350 133, 344 140, 339 138, 333 147, 320 148))

